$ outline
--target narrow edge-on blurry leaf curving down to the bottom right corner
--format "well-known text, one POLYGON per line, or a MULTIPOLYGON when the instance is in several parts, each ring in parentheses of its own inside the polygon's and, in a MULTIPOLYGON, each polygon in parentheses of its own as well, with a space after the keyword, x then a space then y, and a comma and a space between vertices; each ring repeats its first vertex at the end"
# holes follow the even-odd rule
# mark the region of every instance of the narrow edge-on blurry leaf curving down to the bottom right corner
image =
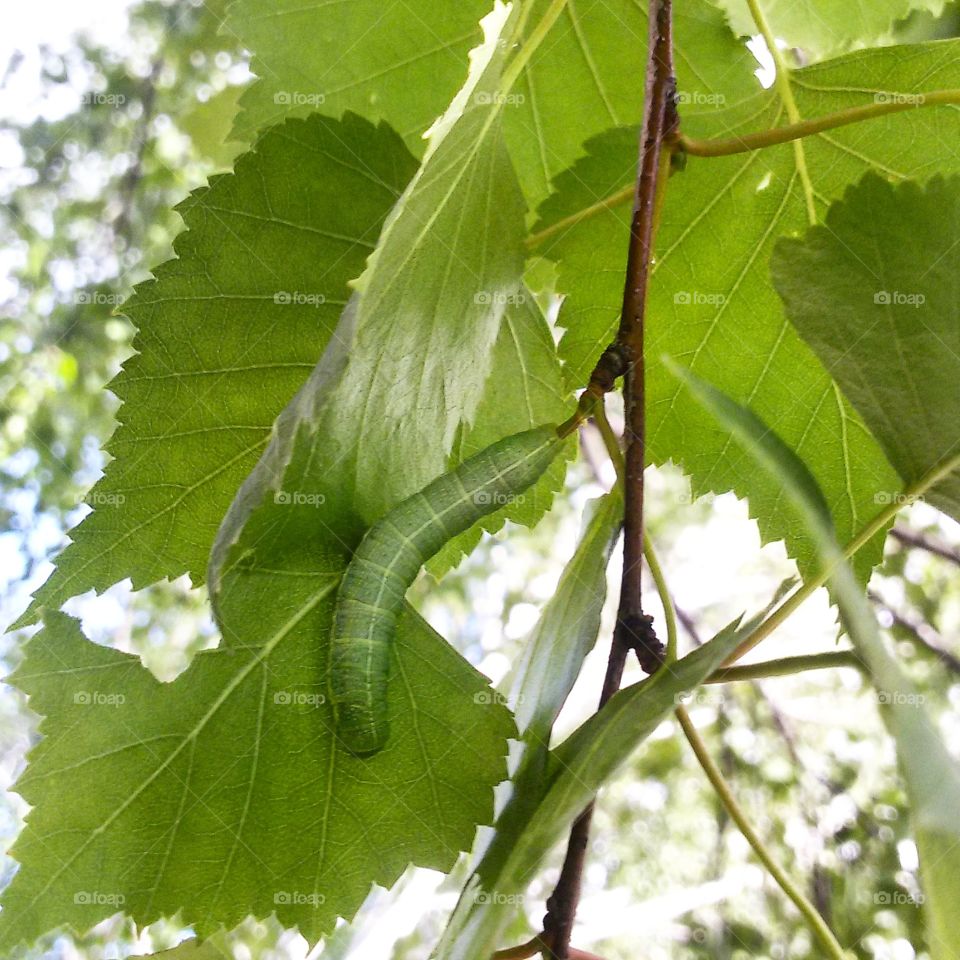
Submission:
POLYGON ((804 516, 825 569, 843 625, 867 664, 883 719, 897 744, 920 851, 927 938, 935 960, 953 960, 960 943, 960 765, 927 712, 925 697, 884 644, 873 610, 833 538, 823 497, 807 465, 752 410, 688 370, 681 380, 710 414, 776 478, 804 516))

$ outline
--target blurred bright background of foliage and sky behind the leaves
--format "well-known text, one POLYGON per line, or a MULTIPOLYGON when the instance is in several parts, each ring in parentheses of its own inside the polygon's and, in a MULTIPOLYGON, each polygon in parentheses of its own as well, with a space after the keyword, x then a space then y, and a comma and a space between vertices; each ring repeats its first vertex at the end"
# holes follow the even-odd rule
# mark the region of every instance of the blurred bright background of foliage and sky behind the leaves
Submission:
MULTIPOLYGON (((9 623, 49 573, 66 531, 89 507, 116 402, 104 385, 131 352, 122 304, 171 255, 173 207, 229 169, 224 143, 245 52, 221 32, 226 0, 100 0, 81 12, 52 0, 7 16, 0 42, 0 611, 9 623), (8 44, 9 47, 3 44, 8 44)), ((891 42, 960 32, 956 4, 916 15, 891 42)), ((549 271, 547 271, 549 273, 549 271)), ((569 497, 534 531, 487 538, 414 599, 494 682, 507 677, 576 541, 588 499, 609 485, 597 438, 571 470, 569 497)), ((690 647, 743 611, 764 607, 795 574, 780 545, 761 547, 745 504, 691 502, 676 470, 650 471, 648 515, 690 647)), ((925 691, 946 741, 960 742, 960 529, 918 504, 901 516, 871 582, 881 622, 925 691)), ((611 568, 611 594, 618 580, 611 568)), ((612 600, 611 596, 611 600, 612 600)), ((655 593, 650 609, 659 614, 655 593)), ((602 637, 609 637, 608 602, 602 637)), ((133 593, 118 585, 72 601, 93 640, 138 653, 158 677, 216 642, 206 597, 184 580, 133 593)), ((662 618, 658 617, 662 629, 662 618)), ((4 672, 27 632, 0 640, 4 672)), ((814 598, 764 645, 761 658, 832 649, 835 616, 814 598)), ((839 642, 843 642, 839 640, 839 642)), ((602 646, 602 644, 601 644, 602 646)), ((595 651, 557 726, 565 736, 594 708, 605 654, 595 651)), ((637 679, 632 673, 628 681, 637 679)), ((852 671, 708 687, 689 709, 741 802, 857 957, 923 956, 916 850, 875 694, 852 671)), ((25 699, 0 695, 0 778, 9 787, 36 737, 25 699)), ((0 801, 5 846, 26 806, 0 801)), ((604 790, 595 818, 574 942, 609 960, 818 955, 782 893, 756 864, 665 723, 604 790)), ((517 912, 517 941, 538 928, 561 851, 517 912)), ((467 858, 459 868, 462 881, 467 858)), ((7 857, 0 882, 16 869, 7 857)), ((295 932, 250 921, 211 956, 300 958, 429 955, 452 908, 457 873, 411 870, 374 890, 358 921, 312 951, 295 932)), ((117 958, 172 947, 176 918, 137 930, 122 917, 83 934, 51 935, 29 958, 117 958)), ((188 960, 181 947, 170 960, 188 960)), ((201 960, 197 952, 197 960, 201 960)))

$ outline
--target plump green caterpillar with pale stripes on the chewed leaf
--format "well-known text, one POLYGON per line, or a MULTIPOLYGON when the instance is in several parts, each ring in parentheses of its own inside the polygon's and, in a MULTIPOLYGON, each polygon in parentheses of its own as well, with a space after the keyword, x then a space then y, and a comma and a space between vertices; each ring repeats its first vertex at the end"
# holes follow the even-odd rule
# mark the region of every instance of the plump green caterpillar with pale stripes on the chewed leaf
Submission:
POLYGON ((448 540, 530 487, 557 455, 563 428, 506 437, 438 477, 378 520, 340 583, 330 696, 337 734, 353 753, 387 740, 390 644, 407 588, 448 540))

